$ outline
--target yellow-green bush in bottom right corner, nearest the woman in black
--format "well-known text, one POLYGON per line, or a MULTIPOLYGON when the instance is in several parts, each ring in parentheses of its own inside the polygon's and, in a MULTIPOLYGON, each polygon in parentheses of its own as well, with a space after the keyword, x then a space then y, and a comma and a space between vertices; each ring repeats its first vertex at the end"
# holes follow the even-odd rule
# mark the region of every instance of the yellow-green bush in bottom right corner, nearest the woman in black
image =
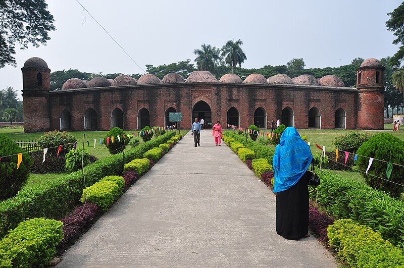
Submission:
POLYGON ((399 267, 404 252, 371 228, 352 220, 338 220, 327 228, 329 245, 350 267, 399 267))

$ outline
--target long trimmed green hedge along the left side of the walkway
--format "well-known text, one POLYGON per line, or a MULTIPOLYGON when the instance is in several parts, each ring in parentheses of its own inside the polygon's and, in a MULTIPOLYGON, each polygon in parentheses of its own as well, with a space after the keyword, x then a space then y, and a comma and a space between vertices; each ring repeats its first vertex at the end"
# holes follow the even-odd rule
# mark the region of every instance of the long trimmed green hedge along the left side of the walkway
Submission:
MULTIPOLYGON (((100 178, 111 175, 121 175, 124 164, 136 158, 142 158, 145 151, 166 143, 175 131, 156 137, 142 144, 142 147, 125 150, 124 153, 111 155, 97 160, 84 168, 84 179, 87 186, 91 186, 100 178)), ((181 137, 177 135, 180 139, 181 137)), ((19 192, 15 197, 0 202, 0 237, 8 230, 27 218, 46 217, 61 219, 73 209, 84 189, 81 171, 64 174, 48 181, 45 185, 19 192)))

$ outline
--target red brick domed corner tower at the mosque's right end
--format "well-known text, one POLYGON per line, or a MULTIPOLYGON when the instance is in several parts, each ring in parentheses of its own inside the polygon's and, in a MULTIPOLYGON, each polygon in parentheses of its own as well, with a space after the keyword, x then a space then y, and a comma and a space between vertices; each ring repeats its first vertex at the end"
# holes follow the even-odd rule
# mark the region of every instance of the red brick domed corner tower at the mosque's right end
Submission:
POLYGON ((373 58, 365 60, 357 69, 357 129, 384 129, 384 69, 373 58))

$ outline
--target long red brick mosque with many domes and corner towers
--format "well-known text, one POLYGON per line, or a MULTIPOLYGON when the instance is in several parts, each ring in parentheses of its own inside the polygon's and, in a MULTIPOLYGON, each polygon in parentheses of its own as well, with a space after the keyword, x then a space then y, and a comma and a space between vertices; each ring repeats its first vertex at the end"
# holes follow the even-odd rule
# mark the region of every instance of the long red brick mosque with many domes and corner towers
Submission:
POLYGON ((251 74, 244 81, 226 74, 218 81, 208 71, 194 71, 186 80, 167 74, 162 80, 145 74, 91 81, 67 80, 51 91, 51 70, 40 58, 21 68, 25 132, 49 130, 140 130, 170 127, 170 113, 181 113, 180 129, 190 129, 193 118, 206 125, 220 121, 246 128, 270 129, 271 120, 296 129, 369 129, 384 127, 384 67, 367 59, 357 69, 357 87, 345 87, 334 75, 316 79, 278 74, 268 79, 251 74))

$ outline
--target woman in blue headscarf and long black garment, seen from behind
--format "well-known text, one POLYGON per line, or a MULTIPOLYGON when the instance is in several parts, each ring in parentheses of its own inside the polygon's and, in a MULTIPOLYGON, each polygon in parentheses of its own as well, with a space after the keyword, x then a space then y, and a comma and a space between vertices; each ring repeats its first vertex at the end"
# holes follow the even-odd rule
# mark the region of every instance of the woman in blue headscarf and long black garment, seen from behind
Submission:
POLYGON ((310 146, 295 128, 283 131, 273 157, 276 233, 286 239, 309 237, 309 190, 303 176, 312 163, 310 146))

